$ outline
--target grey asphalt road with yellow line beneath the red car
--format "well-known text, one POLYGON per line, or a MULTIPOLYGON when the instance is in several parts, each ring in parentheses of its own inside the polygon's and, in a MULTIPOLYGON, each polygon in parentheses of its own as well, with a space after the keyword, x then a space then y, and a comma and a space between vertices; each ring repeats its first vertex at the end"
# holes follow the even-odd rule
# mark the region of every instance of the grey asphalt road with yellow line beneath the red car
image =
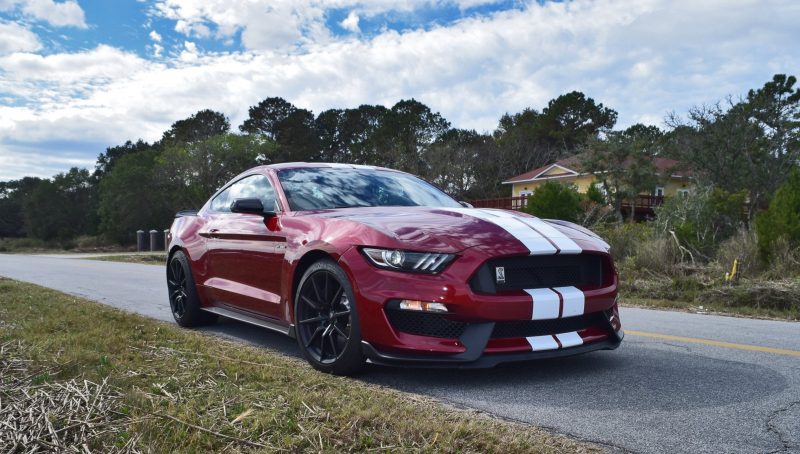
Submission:
MULTIPOLYGON (((172 320, 159 266, 0 254, 0 276, 172 320)), ((616 351, 489 370, 371 366, 362 379, 612 451, 800 452, 800 323, 627 307, 621 317, 616 351)), ((299 354, 293 340, 238 322, 206 330, 299 354)))

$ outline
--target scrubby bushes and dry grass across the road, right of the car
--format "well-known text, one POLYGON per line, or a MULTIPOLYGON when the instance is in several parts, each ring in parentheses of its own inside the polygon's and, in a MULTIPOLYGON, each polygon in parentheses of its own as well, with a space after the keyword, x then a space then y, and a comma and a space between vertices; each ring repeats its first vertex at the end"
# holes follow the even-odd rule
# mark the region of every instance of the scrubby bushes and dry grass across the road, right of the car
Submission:
POLYGON ((631 223, 598 214, 609 209, 574 188, 546 186, 528 211, 569 214, 602 236, 623 304, 800 320, 800 173, 750 221, 743 195, 717 188, 699 187, 658 207, 655 219, 631 223))

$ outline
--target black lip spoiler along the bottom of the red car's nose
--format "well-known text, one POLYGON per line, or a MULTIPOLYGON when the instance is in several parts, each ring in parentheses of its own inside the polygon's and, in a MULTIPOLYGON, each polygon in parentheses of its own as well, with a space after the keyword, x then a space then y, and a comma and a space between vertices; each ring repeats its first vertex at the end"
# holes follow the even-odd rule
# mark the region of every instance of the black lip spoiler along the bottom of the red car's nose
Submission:
POLYGON ((431 355, 398 355, 378 351, 367 341, 361 341, 361 351, 369 362, 382 366, 404 366, 421 368, 452 369, 486 369, 501 363, 532 361, 537 359, 558 358, 579 355, 597 350, 614 350, 622 343, 625 333, 622 329, 614 331, 609 323, 609 337, 606 340, 592 342, 557 350, 531 351, 524 353, 483 354, 489 342, 494 323, 475 323, 468 325, 459 339, 466 347, 463 353, 448 356, 431 355))

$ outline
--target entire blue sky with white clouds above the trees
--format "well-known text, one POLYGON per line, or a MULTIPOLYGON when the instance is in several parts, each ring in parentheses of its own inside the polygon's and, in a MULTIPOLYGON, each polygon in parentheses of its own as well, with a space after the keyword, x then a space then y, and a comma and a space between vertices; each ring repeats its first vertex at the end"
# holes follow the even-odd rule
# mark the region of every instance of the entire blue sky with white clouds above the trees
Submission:
POLYGON ((800 76, 797 0, 0 0, 0 180, 210 108, 415 98, 454 127, 579 90, 618 128, 800 76))

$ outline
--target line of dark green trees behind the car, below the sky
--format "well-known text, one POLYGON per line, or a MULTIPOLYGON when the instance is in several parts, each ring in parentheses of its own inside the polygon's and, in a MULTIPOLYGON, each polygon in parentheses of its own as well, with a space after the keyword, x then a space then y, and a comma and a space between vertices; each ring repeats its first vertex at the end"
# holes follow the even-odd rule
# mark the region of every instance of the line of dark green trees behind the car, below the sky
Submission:
POLYGON ((654 186, 652 157, 666 156, 721 190, 747 191, 755 212, 798 166, 795 83, 776 75, 738 100, 669 115, 665 130, 637 124, 615 131, 617 112, 577 91, 540 110, 505 114, 488 133, 455 128, 414 99, 315 115, 270 97, 251 106, 236 129, 224 113, 206 109, 155 142, 108 147, 92 170, 0 182, 0 237, 130 242, 139 228, 166 228, 176 211, 199 208, 241 171, 288 161, 396 168, 472 200, 508 196, 502 181, 582 153, 587 169, 602 172, 606 202, 618 209, 654 186))

